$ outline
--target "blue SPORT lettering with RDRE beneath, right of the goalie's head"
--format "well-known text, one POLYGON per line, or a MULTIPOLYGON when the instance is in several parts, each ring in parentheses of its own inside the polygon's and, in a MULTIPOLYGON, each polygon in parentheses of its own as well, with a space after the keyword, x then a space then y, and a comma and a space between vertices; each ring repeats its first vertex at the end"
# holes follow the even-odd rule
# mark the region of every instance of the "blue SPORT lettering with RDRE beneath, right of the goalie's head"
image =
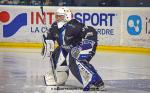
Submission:
POLYGON ((81 13, 74 14, 74 18, 79 22, 95 26, 99 35, 114 35, 113 21, 117 14, 115 13, 81 13), (97 27, 96 27, 97 26, 97 27), (106 28, 107 27, 107 28, 106 28))

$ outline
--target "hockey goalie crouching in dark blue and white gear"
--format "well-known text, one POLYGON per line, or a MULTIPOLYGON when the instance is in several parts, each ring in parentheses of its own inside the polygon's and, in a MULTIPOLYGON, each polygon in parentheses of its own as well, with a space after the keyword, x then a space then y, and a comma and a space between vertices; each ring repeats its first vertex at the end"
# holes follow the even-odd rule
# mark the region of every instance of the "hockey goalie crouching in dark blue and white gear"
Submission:
POLYGON ((46 85, 65 84, 70 69, 83 85, 83 90, 89 90, 92 86, 104 89, 103 80, 89 63, 97 46, 97 32, 93 27, 72 19, 71 10, 61 7, 56 11, 56 22, 43 35, 43 40, 42 54, 50 57, 55 70, 45 75, 46 85), (55 41, 58 43, 56 49, 55 41))

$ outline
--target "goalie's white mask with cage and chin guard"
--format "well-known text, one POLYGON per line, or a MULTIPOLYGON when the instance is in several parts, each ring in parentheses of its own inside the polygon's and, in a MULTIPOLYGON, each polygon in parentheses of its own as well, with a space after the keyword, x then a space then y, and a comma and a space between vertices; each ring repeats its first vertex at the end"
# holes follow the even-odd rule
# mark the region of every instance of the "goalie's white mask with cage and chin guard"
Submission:
POLYGON ((56 11, 56 21, 58 28, 61 28, 65 23, 72 19, 71 10, 68 7, 61 7, 56 11))

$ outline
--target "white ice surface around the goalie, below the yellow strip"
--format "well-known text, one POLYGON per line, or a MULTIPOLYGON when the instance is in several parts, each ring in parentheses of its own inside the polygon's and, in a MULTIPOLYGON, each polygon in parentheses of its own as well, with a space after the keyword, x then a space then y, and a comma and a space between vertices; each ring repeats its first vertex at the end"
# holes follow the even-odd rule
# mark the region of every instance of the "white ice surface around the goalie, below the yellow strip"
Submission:
MULTIPOLYGON (((97 52, 91 64, 103 78, 107 91, 90 93, 150 93, 150 55, 97 52)), ((81 84, 70 74, 59 90, 47 87, 40 49, 0 48, 0 93, 83 93, 81 84)))

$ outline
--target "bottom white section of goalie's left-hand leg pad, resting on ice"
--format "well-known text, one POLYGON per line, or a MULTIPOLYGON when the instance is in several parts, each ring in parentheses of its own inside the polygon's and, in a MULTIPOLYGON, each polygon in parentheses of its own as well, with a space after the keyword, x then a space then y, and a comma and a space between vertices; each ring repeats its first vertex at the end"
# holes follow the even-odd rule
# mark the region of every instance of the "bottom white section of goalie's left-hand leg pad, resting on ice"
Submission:
POLYGON ((53 73, 47 73, 45 78, 45 83, 47 86, 56 86, 56 85, 63 85, 68 79, 68 73, 64 71, 57 71, 56 72, 57 82, 54 79, 53 73))

